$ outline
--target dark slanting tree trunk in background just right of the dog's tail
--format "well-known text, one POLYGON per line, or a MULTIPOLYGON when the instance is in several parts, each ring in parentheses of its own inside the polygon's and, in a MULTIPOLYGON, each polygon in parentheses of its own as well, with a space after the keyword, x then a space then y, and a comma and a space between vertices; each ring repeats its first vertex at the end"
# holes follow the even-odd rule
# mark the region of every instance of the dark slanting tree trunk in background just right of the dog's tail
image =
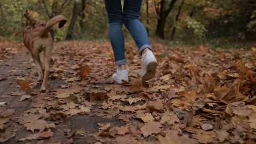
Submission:
POLYGON ((79 0, 75 0, 72 18, 71 18, 70 24, 68 26, 67 36, 65 38, 66 40, 72 39, 73 29, 74 29, 76 19, 77 19, 78 13, 79 13, 78 7, 79 7, 79 0))

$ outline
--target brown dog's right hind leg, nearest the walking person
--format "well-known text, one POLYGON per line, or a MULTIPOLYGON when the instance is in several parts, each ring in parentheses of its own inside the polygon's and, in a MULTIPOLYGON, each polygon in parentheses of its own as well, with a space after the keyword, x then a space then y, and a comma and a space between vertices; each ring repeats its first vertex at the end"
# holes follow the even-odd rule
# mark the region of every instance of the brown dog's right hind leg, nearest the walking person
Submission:
POLYGON ((50 76, 50 65, 51 65, 51 58, 52 58, 52 46, 46 47, 44 50, 44 62, 45 62, 45 70, 44 70, 44 80, 41 86, 41 91, 45 91, 47 87, 47 82, 50 76))

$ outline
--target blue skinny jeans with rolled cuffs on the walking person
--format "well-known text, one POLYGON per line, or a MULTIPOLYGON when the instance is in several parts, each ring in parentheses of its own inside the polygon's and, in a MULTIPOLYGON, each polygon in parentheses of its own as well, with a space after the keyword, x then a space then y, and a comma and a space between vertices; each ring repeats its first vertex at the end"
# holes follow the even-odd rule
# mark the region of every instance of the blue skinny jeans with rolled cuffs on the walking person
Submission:
POLYGON ((142 0, 124 0, 122 11, 121 0, 105 0, 109 22, 109 38, 116 65, 123 65, 127 62, 124 53, 123 24, 132 35, 140 54, 146 48, 152 50, 147 31, 139 20, 141 3, 142 0))

